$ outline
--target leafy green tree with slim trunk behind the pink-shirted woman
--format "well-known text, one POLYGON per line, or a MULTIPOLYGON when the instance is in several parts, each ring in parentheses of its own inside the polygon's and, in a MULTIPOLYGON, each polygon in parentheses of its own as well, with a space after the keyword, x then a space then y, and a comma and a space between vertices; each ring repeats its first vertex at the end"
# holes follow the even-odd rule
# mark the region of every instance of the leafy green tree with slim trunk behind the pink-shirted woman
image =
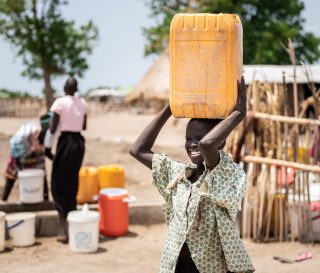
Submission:
POLYGON ((22 57, 23 75, 43 79, 49 109, 53 102, 51 78, 82 76, 88 68, 98 30, 89 21, 77 29, 62 17, 61 0, 0 0, 0 36, 22 57))

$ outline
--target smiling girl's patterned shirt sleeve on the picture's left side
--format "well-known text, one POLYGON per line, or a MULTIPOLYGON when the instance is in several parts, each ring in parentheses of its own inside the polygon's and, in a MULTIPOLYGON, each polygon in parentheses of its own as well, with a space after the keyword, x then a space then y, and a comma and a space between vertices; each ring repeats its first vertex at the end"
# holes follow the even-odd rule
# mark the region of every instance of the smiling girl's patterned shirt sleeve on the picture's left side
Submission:
POLYGON ((170 182, 171 159, 165 154, 155 153, 152 157, 153 185, 157 187, 160 194, 167 201, 169 194, 166 187, 170 182))

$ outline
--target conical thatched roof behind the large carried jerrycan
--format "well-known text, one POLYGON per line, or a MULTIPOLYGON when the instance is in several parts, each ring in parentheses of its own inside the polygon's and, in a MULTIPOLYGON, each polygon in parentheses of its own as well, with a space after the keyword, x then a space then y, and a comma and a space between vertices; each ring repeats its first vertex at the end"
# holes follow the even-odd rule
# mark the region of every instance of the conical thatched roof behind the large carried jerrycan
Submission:
POLYGON ((170 86, 170 61, 168 53, 162 53, 154 65, 126 97, 126 101, 168 100, 170 86))

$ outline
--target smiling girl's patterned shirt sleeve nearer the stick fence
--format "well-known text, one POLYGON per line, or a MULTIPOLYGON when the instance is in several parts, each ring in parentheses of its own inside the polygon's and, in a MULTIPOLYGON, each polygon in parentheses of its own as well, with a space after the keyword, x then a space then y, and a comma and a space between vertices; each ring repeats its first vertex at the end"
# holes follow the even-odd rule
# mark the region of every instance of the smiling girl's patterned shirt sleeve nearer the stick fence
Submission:
POLYGON ((243 169, 229 162, 209 173, 208 195, 215 204, 228 209, 231 218, 234 218, 246 191, 246 181, 243 169))

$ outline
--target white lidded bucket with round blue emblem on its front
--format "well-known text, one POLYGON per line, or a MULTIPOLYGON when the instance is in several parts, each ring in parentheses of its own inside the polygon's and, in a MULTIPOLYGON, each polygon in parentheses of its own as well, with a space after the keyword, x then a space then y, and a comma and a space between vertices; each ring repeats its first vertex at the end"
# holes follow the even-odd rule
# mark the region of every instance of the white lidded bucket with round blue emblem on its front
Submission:
POLYGON ((68 214, 69 248, 73 252, 90 253, 98 249, 99 212, 90 211, 88 204, 82 211, 68 214))

